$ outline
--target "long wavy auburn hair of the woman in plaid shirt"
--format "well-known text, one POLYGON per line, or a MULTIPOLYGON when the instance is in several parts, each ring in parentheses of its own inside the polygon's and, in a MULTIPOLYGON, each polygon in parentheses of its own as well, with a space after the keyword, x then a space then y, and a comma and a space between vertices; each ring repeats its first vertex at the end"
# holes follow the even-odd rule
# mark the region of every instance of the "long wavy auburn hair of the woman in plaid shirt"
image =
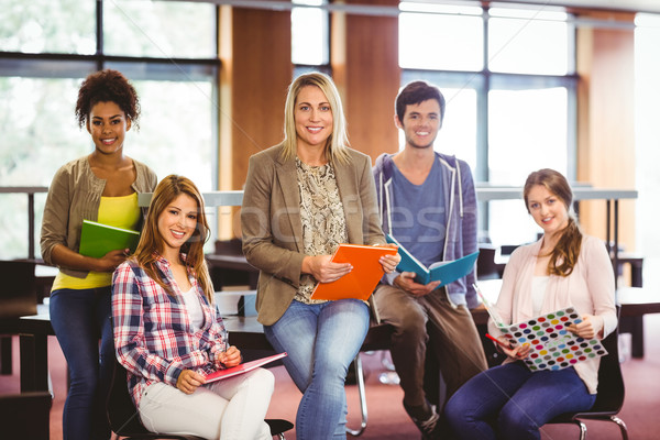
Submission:
POLYGON ((182 246, 180 252, 186 254, 184 262, 186 268, 197 277, 209 302, 213 302, 213 284, 204 256, 204 243, 209 239, 210 231, 204 211, 204 199, 190 179, 172 174, 158 183, 152 196, 140 243, 133 257, 152 279, 173 295, 172 287, 165 284, 155 264, 158 254, 163 252, 164 244, 164 239, 158 231, 158 217, 182 194, 190 196, 197 202, 197 226, 193 235, 182 246))

